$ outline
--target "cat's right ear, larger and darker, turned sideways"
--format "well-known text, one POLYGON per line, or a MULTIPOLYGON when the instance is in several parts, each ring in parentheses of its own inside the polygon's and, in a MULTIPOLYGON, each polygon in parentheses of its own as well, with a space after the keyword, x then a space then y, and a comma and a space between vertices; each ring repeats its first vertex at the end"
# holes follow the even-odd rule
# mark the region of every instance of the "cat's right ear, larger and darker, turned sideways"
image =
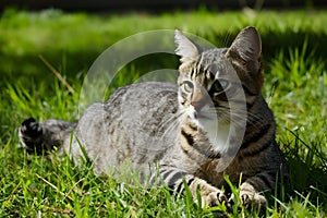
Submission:
POLYGON ((241 31, 226 52, 226 56, 241 61, 244 66, 252 65, 254 68, 253 70, 259 70, 262 39, 256 28, 250 26, 241 31))

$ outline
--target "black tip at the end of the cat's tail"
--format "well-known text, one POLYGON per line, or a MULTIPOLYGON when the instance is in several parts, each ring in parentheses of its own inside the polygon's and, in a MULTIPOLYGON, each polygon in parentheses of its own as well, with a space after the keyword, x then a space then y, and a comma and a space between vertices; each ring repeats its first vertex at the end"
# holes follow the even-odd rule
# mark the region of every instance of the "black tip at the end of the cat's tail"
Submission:
POLYGON ((28 118, 22 122, 19 135, 21 146, 27 152, 34 152, 40 144, 43 128, 34 118, 28 118))

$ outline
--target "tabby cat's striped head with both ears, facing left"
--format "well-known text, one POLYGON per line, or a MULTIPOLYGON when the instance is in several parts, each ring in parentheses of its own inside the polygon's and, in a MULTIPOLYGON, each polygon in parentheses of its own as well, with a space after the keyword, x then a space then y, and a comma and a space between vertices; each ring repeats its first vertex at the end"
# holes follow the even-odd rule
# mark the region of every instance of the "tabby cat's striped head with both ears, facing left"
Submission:
MULTIPOLYGON (((261 95, 262 43, 254 27, 246 27, 229 48, 203 49, 175 31, 179 102, 182 109, 206 117, 211 109, 229 121, 230 109, 246 110, 261 95)), ((216 113, 217 114, 217 113, 216 113)))

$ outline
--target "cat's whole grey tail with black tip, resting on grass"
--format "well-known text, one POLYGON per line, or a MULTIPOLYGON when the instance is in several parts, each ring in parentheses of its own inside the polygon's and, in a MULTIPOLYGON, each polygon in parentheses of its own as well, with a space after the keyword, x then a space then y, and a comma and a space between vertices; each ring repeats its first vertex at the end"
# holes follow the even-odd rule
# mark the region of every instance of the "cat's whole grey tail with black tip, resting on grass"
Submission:
POLYGON ((21 147, 31 154, 48 154, 55 147, 60 148, 77 123, 63 120, 37 122, 34 118, 24 120, 20 126, 21 147))

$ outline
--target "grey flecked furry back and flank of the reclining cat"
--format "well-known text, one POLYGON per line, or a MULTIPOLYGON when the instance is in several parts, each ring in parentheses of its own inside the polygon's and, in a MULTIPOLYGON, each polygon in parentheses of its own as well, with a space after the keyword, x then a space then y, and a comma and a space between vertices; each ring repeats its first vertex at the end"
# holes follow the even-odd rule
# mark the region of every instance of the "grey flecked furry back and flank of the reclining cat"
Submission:
MULTIPOLYGON (((145 82, 118 88, 105 104, 94 104, 78 121, 76 135, 83 142, 96 171, 125 159, 149 162, 160 159, 175 140, 177 86, 145 82), (97 169, 98 168, 98 169, 97 169)), ((78 154, 75 145, 73 154, 78 154)))

